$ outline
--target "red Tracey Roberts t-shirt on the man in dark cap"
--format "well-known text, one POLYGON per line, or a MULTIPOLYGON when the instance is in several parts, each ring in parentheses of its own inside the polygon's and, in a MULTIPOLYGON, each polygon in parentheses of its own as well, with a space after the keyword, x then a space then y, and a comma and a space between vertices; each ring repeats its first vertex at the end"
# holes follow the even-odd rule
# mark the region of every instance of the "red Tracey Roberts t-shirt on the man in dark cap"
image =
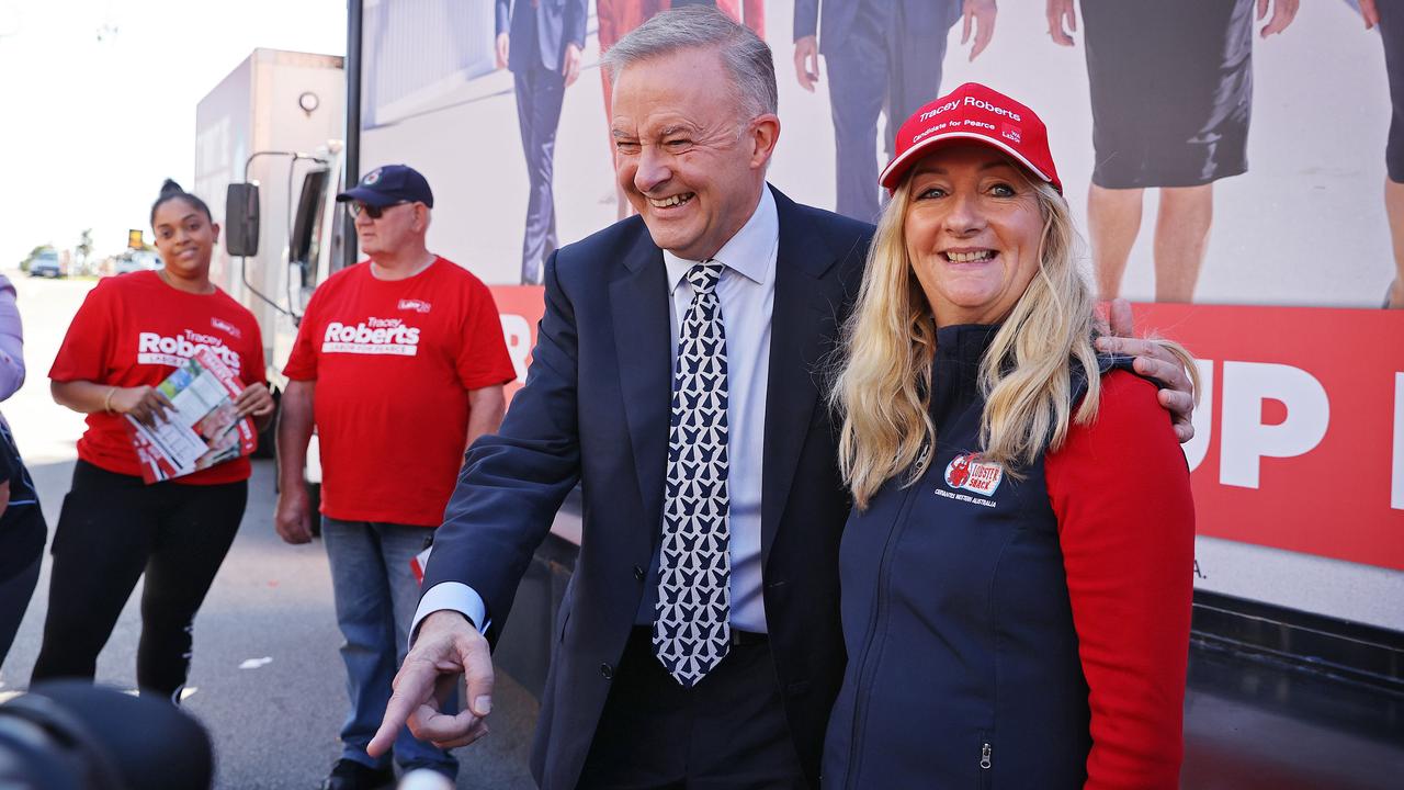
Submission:
POLYGON ((517 377, 493 295, 439 257, 406 280, 369 263, 312 295, 284 374, 316 381, 322 512, 437 527, 468 441, 470 389, 517 377))

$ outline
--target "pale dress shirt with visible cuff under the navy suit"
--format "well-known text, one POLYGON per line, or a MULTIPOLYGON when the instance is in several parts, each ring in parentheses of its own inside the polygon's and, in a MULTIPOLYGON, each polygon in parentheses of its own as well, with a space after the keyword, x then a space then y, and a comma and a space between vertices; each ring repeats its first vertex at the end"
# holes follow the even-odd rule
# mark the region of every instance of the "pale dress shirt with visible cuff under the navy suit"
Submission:
MULTIPOLYGON (((751 218, 713 256, 726 266, 716 285, 726 328, 727 401, 727 493, 731 527, 731 627, 765 633, 765 604, 761 599, 761 467, 765 444, 765 394, 771 370, 771 315, 775 308, 775 260, 779 253, 779 215, 769 187, 751 218)), ((687 273, 698 261, 663 250, 668 270, 673 364, 678 356, 678 328, 692 304, 687 273)), ((671 381, 671 375, 668 380, 671 381)), ((661 524, 660 527, 661 529, 661 524)), ((588 538, 587 538, 588 540, 588 538)), ((657 585, 657 551, 647 583, 657 585)), ((646 600, 653 600, 649 589, 646 600)), ((441 582, 425 590, 414 613, 413 634, 432 611, 451 609, 468 616, 480 630, 487 627, 483 597, 459 582, 441 582)), ((646 613, 640 611, 640 619, 646 613)))

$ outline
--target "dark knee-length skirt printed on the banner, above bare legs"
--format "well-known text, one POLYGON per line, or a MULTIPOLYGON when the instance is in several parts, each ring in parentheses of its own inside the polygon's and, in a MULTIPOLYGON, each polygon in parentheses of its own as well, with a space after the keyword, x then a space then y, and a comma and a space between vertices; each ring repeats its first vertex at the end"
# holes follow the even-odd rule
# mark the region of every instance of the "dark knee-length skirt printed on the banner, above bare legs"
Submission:
POLYGON ((1196 187, 1248 170, 1252 0, 1082 0, 1092 183, 1196 187))

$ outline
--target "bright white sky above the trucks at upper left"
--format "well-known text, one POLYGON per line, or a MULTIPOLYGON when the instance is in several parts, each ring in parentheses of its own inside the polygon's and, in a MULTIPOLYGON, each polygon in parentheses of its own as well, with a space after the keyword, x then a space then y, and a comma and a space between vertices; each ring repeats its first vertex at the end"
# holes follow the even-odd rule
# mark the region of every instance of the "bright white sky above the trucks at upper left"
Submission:
POLYGON ((345 0, 0 0, 0 268, 37 245, 121 252, 195 105, 254 48, 345 55, 345 0))

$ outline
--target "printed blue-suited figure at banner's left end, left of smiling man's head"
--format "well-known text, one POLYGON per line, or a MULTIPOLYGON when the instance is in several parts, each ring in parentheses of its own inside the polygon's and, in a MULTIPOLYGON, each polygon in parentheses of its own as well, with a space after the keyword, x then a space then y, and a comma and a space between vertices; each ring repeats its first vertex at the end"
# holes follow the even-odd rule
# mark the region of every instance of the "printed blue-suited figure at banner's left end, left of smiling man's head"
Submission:
POLYGON ((542 263, 556 250, 556 127, 566 89, 580 76, 587 0, 497 0, 497 67, 510 69, 517 125, 526 157, 526 231, 522 283, 541 283, 542 263))

